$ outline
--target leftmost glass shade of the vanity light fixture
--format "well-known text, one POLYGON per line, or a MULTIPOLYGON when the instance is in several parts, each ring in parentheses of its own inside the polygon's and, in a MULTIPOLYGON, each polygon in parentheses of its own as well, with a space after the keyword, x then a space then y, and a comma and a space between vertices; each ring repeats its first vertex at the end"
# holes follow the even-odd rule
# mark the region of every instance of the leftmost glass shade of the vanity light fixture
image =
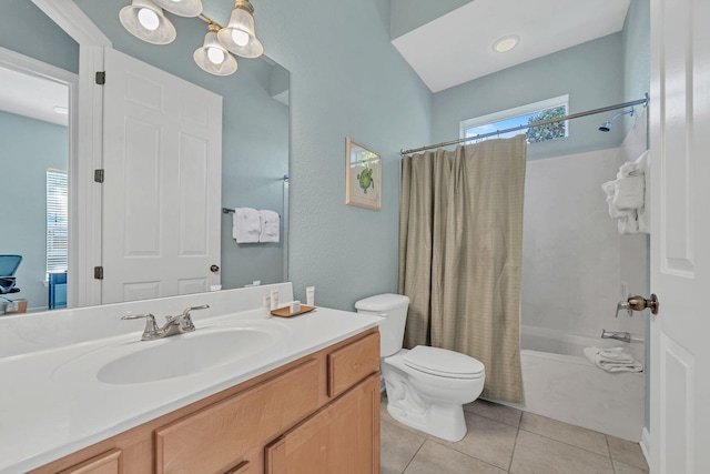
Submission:
POLYGON ((119 19, 131 34, 149 43, 168 44, 178 36, 173 23, 151 0, 133 0, 121 9, 119 19))

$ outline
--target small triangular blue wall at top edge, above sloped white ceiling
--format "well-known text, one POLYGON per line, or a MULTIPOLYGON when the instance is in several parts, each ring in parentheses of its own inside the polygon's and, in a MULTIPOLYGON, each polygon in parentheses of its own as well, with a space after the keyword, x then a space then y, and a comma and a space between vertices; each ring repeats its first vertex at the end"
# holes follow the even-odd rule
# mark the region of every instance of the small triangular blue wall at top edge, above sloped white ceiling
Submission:
POLYGON ((409 31, 436 20, 471 0, 389 0, 389 34, 394 40, 409 31))

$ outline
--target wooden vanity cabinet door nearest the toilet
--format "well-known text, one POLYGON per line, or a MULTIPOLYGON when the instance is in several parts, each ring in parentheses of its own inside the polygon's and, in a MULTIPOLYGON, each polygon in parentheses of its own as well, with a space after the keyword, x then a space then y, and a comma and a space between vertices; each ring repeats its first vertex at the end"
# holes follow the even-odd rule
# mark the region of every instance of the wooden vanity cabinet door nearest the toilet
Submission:
POLYGON ((265 473, 379 473, 379 375, 266 446, 265 473))

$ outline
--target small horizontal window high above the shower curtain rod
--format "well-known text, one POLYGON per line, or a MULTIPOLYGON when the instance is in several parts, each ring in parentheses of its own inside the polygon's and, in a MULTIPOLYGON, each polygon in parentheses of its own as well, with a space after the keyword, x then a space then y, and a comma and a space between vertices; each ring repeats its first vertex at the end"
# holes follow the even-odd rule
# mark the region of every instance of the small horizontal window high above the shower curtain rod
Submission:
MULTIPOLYGON (((513 129, 546 120, 554 120, 567 115, 569 95, 560 95, 554 99, 530 103, 488 115, 477 117, 460 122, 460 138, 467 139, 476 135, 496 132, 497 130, 513 129)), ((550 123, 542 127, 516 130, 514 132, 495 134, 489 138, 510 138, 525 133, 528 143, 542 142, 567 137, 567 121, 550 123)))

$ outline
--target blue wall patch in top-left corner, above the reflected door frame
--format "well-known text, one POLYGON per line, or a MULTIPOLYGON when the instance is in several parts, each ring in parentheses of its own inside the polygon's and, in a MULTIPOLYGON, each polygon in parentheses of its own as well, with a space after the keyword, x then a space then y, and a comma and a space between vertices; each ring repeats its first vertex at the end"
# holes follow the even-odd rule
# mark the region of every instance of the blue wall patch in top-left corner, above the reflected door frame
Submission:
POLYGON ((0 47, 79 72, 79 44, 30 0, 2 0, 0 19, 0 47))

